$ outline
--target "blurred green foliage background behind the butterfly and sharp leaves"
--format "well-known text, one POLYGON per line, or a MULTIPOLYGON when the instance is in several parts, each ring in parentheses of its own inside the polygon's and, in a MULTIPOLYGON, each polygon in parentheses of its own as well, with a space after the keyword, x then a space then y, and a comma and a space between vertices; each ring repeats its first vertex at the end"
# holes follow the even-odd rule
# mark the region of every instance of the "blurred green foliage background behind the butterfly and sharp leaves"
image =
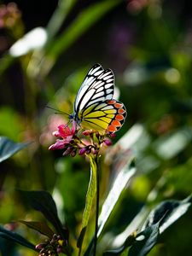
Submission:
MULTIPOLYGON (((137 166, 136 175, 123 189, 104 227, 99 255, 114 246, 115 237, 140 210, 147 214, 160 201, 183 200, 191 194, 191 4, 60 0, 51 9, 47 25, 38 23, 44 26, 38 38, 32 34, 31 41, 22 41, 20 51, 18 40, 29 32, 23 17, 28 15, 34 21, 30 29, 37 20, 30 9, 15 3, 0 6, 0 135, 31 144, 1 164, 0 222, 42 220, 20 201, 15 189, 48 190, 76 247, 90 167, 82 157, 64 158, 61 152, 49 152, 55 140, 52 132, 57 125, 67 123, 67 118, 46 106, 71 113, 84 75, 99 62, 113 69, 120 101, 128 113, 114 139, 116 145, 103 152, 101 203, 130 151, 137 166)), ((46 5, 49 8, 49 3, 46 5)), ((35 244, 44 238, 22 224, 8 228, 35 244)), ((192 251, 191 230, 189 209, 160 236, 159 244, 148 255, 177 256, 192 251)), ((90 226, 85 242, 92 234, 90 226)), ((0 250, 2 255, 37 255, 23 247, 10 247, 3 239, 0 250)))

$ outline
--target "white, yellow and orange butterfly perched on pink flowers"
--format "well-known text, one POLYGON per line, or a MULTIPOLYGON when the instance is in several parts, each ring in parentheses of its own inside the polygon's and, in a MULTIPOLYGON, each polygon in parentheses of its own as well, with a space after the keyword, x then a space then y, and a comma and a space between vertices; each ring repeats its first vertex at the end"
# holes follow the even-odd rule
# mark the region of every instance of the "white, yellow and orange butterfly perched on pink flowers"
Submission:
POLYGON ((100 134, 119 131, 125 122, 126 109, 122 102, 113 99, 113 92, 113 71, 94 65, 79 88, 69 119, 100 134))

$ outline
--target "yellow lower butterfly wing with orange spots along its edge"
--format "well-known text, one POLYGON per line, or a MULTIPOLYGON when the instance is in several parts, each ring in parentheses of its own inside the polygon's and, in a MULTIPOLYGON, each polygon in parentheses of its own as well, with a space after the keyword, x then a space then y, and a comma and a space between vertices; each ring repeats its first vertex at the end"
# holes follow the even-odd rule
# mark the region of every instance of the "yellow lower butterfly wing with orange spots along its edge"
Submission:
POLYGON ((104 134, 119 131, 125 122, 126 109, 122 102, 106 100, 84 109, 82 127, 104 134))

